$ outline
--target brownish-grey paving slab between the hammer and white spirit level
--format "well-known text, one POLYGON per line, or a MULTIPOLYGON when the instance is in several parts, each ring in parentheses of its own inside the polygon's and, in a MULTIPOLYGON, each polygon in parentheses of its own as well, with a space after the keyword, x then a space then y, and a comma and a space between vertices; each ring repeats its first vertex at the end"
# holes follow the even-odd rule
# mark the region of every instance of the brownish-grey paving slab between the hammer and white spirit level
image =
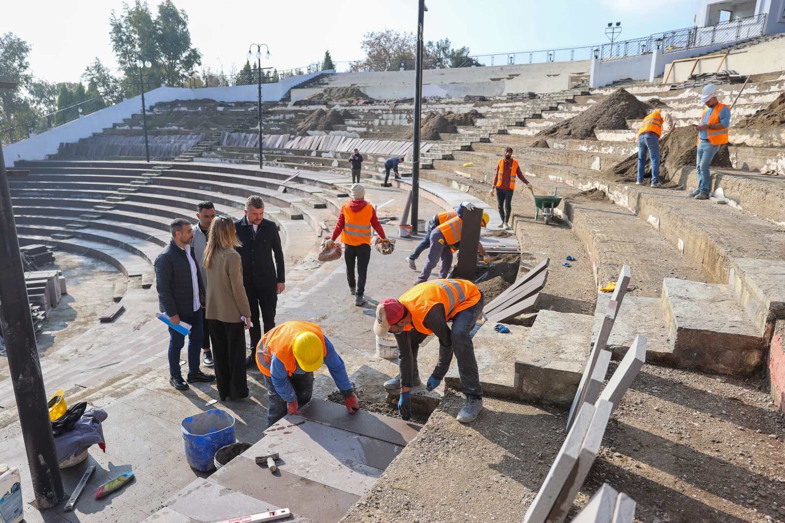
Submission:
POLYGON ((360 496, 305 477, 277 470, 271 474, 254 459, 239 455, 210 476, 210 481, 256 499, 271 499, 281 507, 314 521, 340 521, 360 496))

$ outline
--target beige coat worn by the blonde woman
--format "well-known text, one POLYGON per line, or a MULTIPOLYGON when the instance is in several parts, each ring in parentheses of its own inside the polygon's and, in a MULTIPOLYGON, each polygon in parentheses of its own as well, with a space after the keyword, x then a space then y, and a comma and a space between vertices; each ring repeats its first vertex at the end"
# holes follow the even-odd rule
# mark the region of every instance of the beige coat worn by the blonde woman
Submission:
POLYGON ((238 324, 240 316, 250 318, 250 305, 243 287, 243 265, 234 249, 221 249, 213 256, 213 266, 204 269, 207 287, 206 318, 238 324))

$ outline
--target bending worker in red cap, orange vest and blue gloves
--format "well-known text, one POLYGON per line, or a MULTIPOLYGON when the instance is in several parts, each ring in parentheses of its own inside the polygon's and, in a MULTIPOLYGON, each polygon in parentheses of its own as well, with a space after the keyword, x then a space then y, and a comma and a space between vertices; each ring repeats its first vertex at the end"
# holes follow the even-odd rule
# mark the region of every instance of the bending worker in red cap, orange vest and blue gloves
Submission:
MULTIPOLYGON (((474 357, 471 332, 484 306, 483 294, 469 280, 433 280, 411 287, 398 299, 382 300, 376 308, 374 334, 395 335, 400 359, 400 417, 411 417, 411 388, 417 372, 417 353, 420 343, 429 335, 439 338, 439 360, 425 386, 434 390, 439 386, 452 362, 458 360, 466 400, 458 411, 459 422, 476 419, 483 408, 480 373, 474 357), (447 322, 452 321, 452 328, 447 322)), ((390 380, 391 382, 396 379, 390 380)), ((419 380, 418 380, 419 381, 419 380)), ((389 383, 389 382, 388 382, 389 383)), ((385 388, 389 388, 385 383, 385 388)))

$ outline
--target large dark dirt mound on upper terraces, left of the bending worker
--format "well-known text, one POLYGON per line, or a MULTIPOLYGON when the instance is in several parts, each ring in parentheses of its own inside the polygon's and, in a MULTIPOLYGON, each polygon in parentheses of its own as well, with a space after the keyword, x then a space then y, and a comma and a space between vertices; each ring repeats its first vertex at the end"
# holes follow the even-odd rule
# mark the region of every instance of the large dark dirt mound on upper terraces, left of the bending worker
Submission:
POLYGON ((619 89, 592 108, 537 133, 537 136, 595 139, 595 129, 627 129, 627 119, 642 119, 649 112, 652 108, 647 104, 619 89))

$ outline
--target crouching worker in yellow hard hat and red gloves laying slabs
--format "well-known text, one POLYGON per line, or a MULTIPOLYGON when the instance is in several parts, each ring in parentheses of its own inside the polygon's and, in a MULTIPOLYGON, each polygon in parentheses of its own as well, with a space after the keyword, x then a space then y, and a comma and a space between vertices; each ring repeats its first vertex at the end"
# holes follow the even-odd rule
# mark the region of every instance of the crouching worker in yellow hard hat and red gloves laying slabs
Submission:
POLYGON ((256 364, 265 375, 268 426, 311 400, 313 371, 326 364, 344 397, 349 414, 360 408, 346 367, 321 327, 307 321, 287 321, 273 327, 259 341, 256 364))

